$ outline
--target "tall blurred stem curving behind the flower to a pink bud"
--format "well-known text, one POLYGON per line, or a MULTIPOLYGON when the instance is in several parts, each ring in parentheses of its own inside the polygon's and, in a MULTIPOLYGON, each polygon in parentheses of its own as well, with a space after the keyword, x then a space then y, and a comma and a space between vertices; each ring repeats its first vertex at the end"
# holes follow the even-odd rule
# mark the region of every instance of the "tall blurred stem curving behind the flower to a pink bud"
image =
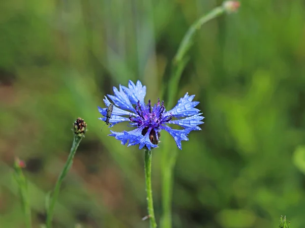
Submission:
MULTIPOLYGON (((174 101, 178 91, 178 85, 181 78, 181 74, 184 71, 189 58, 187 57, 187 52, 191 48, 193 44, 193 38, 196 34, 196 31, 206 22, 222 15, 225 13, 225 9, 223 6, 216 7, 208 14, 203 15, 197 21, 195 21, 186 35, 182 39, 177 53, 172 62, 172 73, 169 79, 168 85, 170 85, 170 89, 167 90, 167 99, 168 106, 172 107, 174 105, 174 101)), ((164 140, 166 141, 166 140, 164 140)), ((176 164, 177 158, 177 149, 171 147, 169 143, 166 143, 164 146, 163 157, 162 157, 162 206, 163 206, 163 214, 161 218, 161 226, 162 228, 171 228, 172 227, 172 189, 173 189, 173 169, 176 164)))

